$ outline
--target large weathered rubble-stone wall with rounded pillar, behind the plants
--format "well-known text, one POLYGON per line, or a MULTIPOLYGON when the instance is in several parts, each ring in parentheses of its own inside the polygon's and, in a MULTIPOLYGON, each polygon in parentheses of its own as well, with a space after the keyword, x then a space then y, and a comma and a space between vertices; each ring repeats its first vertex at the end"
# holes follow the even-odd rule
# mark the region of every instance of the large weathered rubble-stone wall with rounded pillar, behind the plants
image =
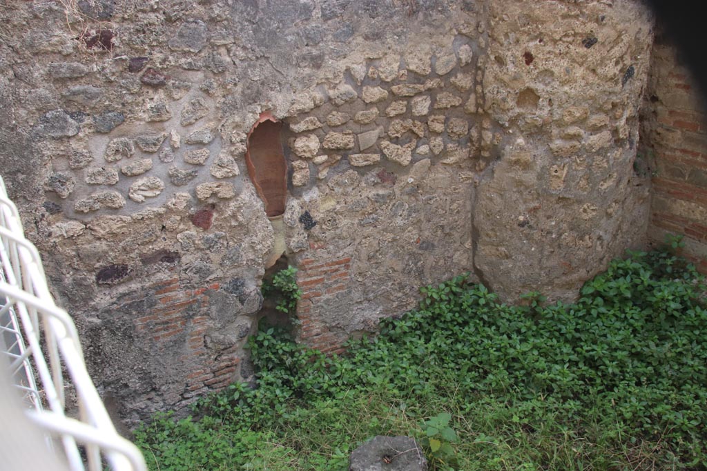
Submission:
POLYGON ((637 1, 49 2, 0 12, 3 176, 128 423, 252 369, 269 261, 327 352, 463 272, 572 299, 642 246, 637 1), (284 122, 271 222, 248 135, 284 122))

